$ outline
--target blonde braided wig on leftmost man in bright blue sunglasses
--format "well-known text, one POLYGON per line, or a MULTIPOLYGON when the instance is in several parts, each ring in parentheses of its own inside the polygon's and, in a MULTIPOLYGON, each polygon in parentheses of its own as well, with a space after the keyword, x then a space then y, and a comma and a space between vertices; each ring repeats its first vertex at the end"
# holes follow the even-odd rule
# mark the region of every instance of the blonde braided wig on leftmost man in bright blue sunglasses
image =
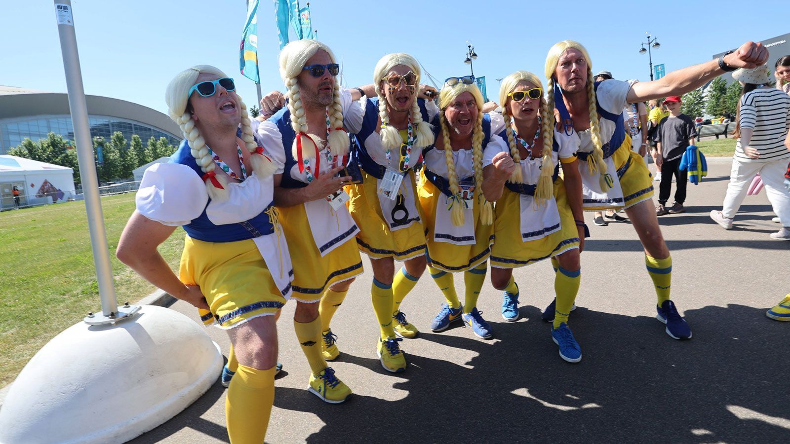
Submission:
MULTIPOLYGON (((187 70, 183 70, 170 81, 167 85, 167 92, 165 93, 165 102, 167 103, 167 110, 170 118, 173 119, 180 127, 184 134, 184 138, 189 141, 190 152, 194 156, 201 171, 206 173, 204 175, 206 190, 209 192, 209 197, 213 200, 224 201, 228 199, 228 179, 225 175, 213 174, 216 169, 216 164, 212 156, 209 154, 209 148, 205 145, 205 140, 195 126, 192 119, 192 112, 189 108, 190 88, 198 83, 198 76, 201 73, 214 74, 217 77, 228 77, 225 73, 209 65, 192 66, 187 70), (219 185, 219 186, 217 186, 219 185)), ((242 140, 247 151, 250 152, 250 165, 257 175, 267 177, 273 175, 276 167, 269 160, 268 157, 263 156, 262 150, 258 150, 258 144, 253 137, 252 127, 250 126, 250 115, 247 113, 246 104, 244 104, 241 96, 236 95, 239 99, 239 107, 242 115, 242 140)))

